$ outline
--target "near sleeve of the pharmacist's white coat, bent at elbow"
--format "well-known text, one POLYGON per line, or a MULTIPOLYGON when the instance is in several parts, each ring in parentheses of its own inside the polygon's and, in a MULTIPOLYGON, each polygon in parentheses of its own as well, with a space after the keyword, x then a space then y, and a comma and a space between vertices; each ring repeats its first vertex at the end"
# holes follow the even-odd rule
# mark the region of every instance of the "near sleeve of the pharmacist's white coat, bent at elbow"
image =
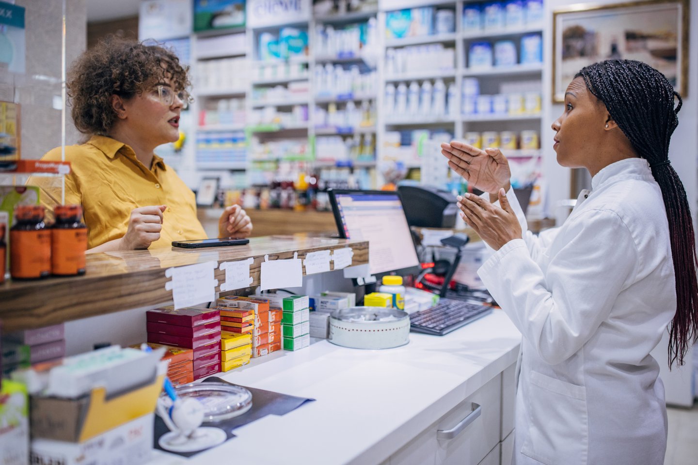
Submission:
POLYGON ((579 351, 637 275, 628 227, 612 211, 578 215, 544 273, 526 243, 500 248, 478 274, 523 337, 551 365, 579 351))

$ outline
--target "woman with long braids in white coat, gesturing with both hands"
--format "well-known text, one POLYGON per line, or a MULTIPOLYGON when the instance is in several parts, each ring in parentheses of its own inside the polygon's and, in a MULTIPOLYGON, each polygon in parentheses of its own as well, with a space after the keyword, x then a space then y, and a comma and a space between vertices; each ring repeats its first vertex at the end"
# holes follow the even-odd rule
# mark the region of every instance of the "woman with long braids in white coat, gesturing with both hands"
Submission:
POLYGON ((668 325, 669 365, 681 365, 698 335, 690 208, 668 158, 679 109, 645 63, 582 69, 552 128, 558 163, 586 168, 592 190, 540 236, 526 231, 500 151, 442 146, 489 193, 459 197, 459 208, 496 251, 479 274, 523 335, 515 464, 664 462, 664 387, 650 351, 668 325))

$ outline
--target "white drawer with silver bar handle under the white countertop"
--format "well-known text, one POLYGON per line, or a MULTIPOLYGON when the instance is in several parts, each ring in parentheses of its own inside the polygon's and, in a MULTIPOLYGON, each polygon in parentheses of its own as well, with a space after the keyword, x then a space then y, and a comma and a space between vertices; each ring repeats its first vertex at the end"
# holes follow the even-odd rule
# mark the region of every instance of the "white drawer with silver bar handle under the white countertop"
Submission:
POLYGON ((390 457, 390 465, 480 464, 499 443, 501 383, 501 375, 495 376, 395 452, 390 457), (474 410, 477 406, 480 406, 479 411, 474 410), (438 439, 449 435, 444 432, 463 425, 466 418, 472 422, 457 434, 453 432, 453 439, 438 439))

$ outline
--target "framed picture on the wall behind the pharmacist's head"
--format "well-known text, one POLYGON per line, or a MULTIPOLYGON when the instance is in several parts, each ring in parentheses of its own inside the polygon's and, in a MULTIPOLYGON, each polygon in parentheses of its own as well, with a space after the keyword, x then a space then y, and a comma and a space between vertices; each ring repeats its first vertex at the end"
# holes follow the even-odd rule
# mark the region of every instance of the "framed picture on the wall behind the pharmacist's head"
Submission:
POLYGON ((606 59, 643 61, 688 96, 690 0, 570 6, 553 12, 553 102, 581 68, 606 59))

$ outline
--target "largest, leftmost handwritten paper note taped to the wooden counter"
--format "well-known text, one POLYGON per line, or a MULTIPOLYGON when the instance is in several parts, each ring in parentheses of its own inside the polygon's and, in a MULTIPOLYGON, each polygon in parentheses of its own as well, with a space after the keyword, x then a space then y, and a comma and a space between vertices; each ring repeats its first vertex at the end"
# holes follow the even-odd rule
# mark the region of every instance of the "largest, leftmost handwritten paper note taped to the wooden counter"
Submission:
POLYGON ((165 289, 172 291, 174 308, 193 307, 216 300, 218 280, 214 278, 218 262, 205 261, 202 264, 177 266, 165 270, 165 276, 172 280, 165 282, 165 289))

